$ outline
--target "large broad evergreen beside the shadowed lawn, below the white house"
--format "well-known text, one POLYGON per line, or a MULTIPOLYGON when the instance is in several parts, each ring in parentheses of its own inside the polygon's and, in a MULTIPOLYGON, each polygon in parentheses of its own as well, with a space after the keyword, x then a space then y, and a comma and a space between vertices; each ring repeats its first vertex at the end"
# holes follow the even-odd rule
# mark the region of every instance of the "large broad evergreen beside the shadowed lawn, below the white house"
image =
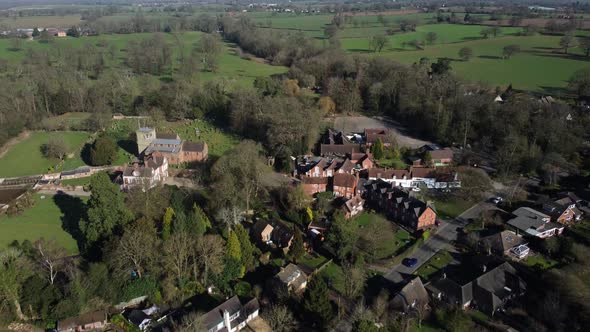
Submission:
POLYGON ((107 173, 93 175, 90 179, 90 190, 92 194, 86 203, 87 215, 80 222, 80 229, 86 241, 92 244, 110 237, 133 216, 125 206, 119 186, 111 182, 107 173))

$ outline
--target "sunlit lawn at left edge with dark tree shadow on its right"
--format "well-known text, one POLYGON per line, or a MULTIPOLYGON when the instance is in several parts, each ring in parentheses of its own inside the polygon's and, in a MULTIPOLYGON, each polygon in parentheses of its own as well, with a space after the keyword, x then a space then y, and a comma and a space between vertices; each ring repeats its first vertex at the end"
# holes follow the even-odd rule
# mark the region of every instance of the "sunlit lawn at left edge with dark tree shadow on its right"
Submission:
POLYGON ((0 216, 0 248, 5 248, 14 240, 35 241, 43 237, 55 240, 70 254, 78 253, 76 241, 62 228, 61 218, 64 215, 62 209, 73 211, 77 208, 73 206, 73 202, 81 201, 72 199, 70 205, 64 203, 60 208, 53 196, 46 195, 41 199, 41 195, 35 195, 34 198, 35 206, 25 210, 21 215, 0 216))

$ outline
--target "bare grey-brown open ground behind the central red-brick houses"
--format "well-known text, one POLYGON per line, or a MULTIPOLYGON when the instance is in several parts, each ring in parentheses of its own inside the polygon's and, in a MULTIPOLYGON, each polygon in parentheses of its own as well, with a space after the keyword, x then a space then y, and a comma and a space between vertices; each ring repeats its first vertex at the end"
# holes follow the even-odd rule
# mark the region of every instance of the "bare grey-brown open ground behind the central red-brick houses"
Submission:
POLYGON ((334 128, 344 133, 359 133, 365 128, 389 128, 397 135, 400 146, 418 148, 430 142, 412 136, 411 130, 385 117, 339 116, 334 119, 334 128))

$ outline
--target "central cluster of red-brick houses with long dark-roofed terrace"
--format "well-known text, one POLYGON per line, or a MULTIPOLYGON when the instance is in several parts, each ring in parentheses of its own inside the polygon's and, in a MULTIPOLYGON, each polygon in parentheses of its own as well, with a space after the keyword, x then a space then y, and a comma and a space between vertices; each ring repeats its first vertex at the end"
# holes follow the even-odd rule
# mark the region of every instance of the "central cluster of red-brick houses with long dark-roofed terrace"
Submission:
POLYGON ((450 167, 453 151, 424 145, 418 149, 417 157, 411 158, 412 166, 408 169, 376 167, 369 152, 371 146, 380 142, 388 147, 393 139, 385 128, 367 128, 348 136, 329 130, 320 144, 320 156, 297 159, 295 176, 308 195, 332 192, 347 218, 356 216, 368 204, 413 230, 433 226, 434 208, 413 197, 412 191, 459 188, 457 172, 450 167), (428 158, 420 157, 426 155, 428 158), (427 163, 424 159, 428 159, 427 163))

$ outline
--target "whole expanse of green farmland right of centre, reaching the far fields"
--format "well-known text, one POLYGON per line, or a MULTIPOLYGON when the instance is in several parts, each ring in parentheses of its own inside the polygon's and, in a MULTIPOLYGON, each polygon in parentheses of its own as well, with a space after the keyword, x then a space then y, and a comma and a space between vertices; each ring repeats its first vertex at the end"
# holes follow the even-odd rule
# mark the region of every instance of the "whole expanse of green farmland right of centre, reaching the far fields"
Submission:
MULTIPOLYGON (((457 13, 459 17, 462 15, 457 13)), ((303 33, 324 40, 324 43, 327 38, 324 28, 333 18, 332 15, 323 14, 298 16, 256 13, 251 16, 261 28, 303 33)), ((336 33, 342 49, 353 54, 386 57, 404 64, 416 63, 422 58, 432 62, 437 58, 448 58, 451 59, 453 71, 467 80, 485 82, 491 87, 512 84, 515 89, 545 94, 562 93, 571 75, 588 66, 588 59, 582 56, 579 48, 572 48, 568 55, 563 54, 559 48, 559 35, 521 36, 521 27, 501 27, 497 36, 484 38, 480 32, 488 26, 432 24, 435 23, 432 13, 383 15, 381 19, 385 20, 385 24, 379 22, 378 15, 358 15, 347 19, 347 23, 336 33), (418 23, 416 31, 400 31, 399 22, 403 19, 415 20, 418 23), (393 35, 386 35, 389 29, 393 30, 393 35), (437 35, 432 44, 420 48, 412 45, 414 41, 423 43, 429 32, 437 35), (370 48, 370 41, 375 35, 385 35, 387 38, 387 45, 378 53, 372 53, 370 48), (502 49, 511 44, 519 45, 521 52, 504 59, 502 49), (473 57, 469 61, 459 59, 458 52, 463 47, 473 50, 473 57)), ((575 35, 588 37, 590 32, 578 30, 575 35)))

